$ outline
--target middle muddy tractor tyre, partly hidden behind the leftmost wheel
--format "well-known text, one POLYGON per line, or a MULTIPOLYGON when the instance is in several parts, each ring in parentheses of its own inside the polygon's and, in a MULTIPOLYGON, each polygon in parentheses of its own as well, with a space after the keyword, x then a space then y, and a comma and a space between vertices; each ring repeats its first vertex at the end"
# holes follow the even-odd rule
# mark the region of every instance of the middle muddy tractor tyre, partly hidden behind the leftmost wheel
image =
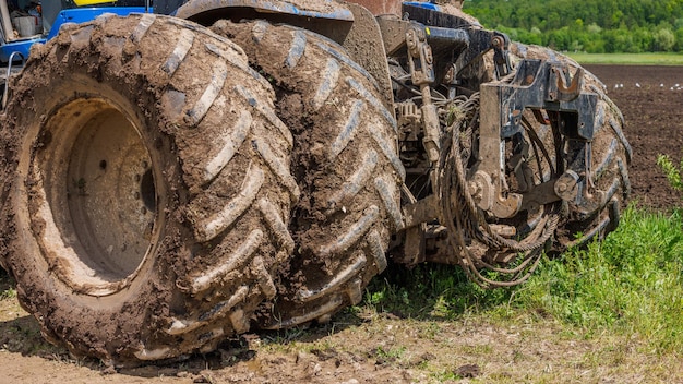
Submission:
POLYGON ((274 80, 278 113, 295 134, 297 249, 260 324, 325 322, 362 299, 386 266, 390 236, 403 227, 394 116, 372 76, 321 35, 263 21, 213 28, 274 80))

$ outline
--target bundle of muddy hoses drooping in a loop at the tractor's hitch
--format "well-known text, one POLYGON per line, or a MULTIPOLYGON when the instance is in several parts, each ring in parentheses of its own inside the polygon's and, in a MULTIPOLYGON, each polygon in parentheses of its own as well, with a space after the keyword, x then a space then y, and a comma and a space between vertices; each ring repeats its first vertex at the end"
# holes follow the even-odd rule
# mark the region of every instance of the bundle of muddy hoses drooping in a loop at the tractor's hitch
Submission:
MULTIPOLYGON (((447 228, 450 248, 460 255, 458 262, 472 280, 482 287, 518 285, 538 266, 544 245, 558 227, 560 206, 541 207, 540 220, 530 225, 531 231, 522 240, 496 233, 467 188, 466 161, 475 146, 472 135, 479 120, 479 94, 453 103, 455 118, 443 143, 435 185, 441 204, 440 221, 447 228), (492 255, 504 255, 505 265, 493 261, 500 257, 492 255), (484 276, 482 269, 493 274, 484 276)), ((537 137, 530 123, 525 123, 525 129, 529 137, 537 137)))

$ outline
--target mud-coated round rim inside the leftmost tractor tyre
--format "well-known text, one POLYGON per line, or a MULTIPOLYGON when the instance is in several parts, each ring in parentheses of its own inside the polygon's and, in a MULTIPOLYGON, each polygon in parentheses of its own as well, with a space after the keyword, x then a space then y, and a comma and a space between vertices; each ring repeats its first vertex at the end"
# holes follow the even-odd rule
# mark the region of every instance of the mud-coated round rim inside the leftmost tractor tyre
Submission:
POLYGON ((158 238, 163 208, 144 125, 124 110, 100 98, 72 100, 47 121, 49 151, 34 159, 43 172, 43 253, 63 283, 92 296, 130 284, 158 238))

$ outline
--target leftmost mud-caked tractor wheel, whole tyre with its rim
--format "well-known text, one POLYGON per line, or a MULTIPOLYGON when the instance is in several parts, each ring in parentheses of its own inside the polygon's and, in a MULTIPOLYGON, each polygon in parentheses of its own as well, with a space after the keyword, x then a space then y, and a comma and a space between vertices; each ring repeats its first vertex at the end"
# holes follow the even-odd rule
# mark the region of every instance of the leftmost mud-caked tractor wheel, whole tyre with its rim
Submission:
POLYGON ((243 51, 153 14, 32 50, 2 125, 0 261, 45 336, 115 365, 247 332, 293 250, 292 135, 243 51))

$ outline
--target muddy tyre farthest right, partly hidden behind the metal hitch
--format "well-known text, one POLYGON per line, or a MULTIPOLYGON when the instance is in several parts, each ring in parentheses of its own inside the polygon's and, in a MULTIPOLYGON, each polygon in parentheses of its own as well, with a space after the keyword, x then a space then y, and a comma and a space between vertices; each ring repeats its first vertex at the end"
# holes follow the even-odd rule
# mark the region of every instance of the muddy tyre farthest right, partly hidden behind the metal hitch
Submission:
MULTIPOLYGON (((579 68, 579 64, 568 57, 544 47, 514 44, 511 51, 516 58, 559 60, 574 69, 579 68)), ((559 227, 556 233, 558 251, 584 245, 614 230, 619 224, 620 209, 631 192, 628 164, 632 149, 622 132, 624 118, 594 74, 586 72, 584 79, 584 91, 598 95, 590 175, 595 185, 592 193, 600 199, 591 206, 568 204, 567 219, 559 227)), ((573 161, 584 164, 583 152, 572 153, 570 149, 566 160, 570 164, 573 161)))

